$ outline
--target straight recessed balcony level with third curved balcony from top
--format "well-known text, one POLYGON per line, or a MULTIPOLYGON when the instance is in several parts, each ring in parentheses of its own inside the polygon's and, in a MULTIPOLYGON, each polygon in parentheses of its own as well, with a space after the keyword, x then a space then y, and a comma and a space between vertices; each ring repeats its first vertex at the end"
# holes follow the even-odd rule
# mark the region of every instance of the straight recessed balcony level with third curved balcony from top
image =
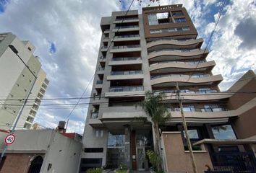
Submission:
POLYGON ((142 64, 112 66, 107 80, 143 79, 142 64))

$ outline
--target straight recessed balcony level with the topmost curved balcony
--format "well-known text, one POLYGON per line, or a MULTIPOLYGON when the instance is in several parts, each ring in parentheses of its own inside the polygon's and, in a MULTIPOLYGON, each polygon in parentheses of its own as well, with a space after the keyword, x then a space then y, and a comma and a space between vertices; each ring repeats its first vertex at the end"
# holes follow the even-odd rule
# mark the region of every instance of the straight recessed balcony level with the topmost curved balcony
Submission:
POLYGON ((137 52, 141 51, 140 40, 115 42, 110 53, 137 52))

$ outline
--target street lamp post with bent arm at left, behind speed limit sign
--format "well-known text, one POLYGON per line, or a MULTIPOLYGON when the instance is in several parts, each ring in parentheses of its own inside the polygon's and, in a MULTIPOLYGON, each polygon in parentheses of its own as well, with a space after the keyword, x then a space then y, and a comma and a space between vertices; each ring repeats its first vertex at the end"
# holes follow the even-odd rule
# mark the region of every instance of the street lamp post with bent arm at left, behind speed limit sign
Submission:
MULTIPOLYGON (((18 55, 19 51, 14 47, 14 45, 9 45, 9 48, 12 50, 13 53, 15 53, 15 55, 16 55, 18 58, 20 58, 20 56, 18 55)), ((22 63, 23 63, 23 64, 25 65, 25 67, 30 71, 30 73, 33 74, 33 76, 35 77, 35 80, 33 81, 33 84, 32 84, 32 86, 30 87, 29 91, 27 92, 27 96, 26 96, 26 98, 25 98, 25 101, 23 102, 23 105, 22 105, 22 107, 21 107, 21 109, 20 109, 19 114, 17 115, 17 118, 16 118, 16 120, 15 120, 15 122, 14 122, 14 125, 13 125, 13 127, 12 127, 12 130, 10 130, 10 133, 14 133, 14 130, 15 130, 15 128, 16 128, 16 125, 17 125, 18 121, 20 120, 20 116, 22 115, 22 111, 24 110, 24 107, 25 107, 25 105, 27 104, 27 99, 30 97, 30 93, 31 93, 31 91, 32 91, 32 89, 33 89, 33 87, 34 87, 34 85, 35 85, 35 81, 36 81, 36 79, 38 79, 38 77, 35 76, 35 74, 33 73, 33 71, 30 70, 29 66, 27 66, 27 64, 22 60, 22 58, 20 58, 20 61, 22 61, 22 63)), ((2 151, 1 157, 0 157, 0 164, 1 164, 1 161, 2 161, 2 159, 3 159, 3 157, 4 157, 4 153, 7 151, 7 147, 8 147, 7 144, 5 144, 5 145, 4 145, 4 150, 2 151)))

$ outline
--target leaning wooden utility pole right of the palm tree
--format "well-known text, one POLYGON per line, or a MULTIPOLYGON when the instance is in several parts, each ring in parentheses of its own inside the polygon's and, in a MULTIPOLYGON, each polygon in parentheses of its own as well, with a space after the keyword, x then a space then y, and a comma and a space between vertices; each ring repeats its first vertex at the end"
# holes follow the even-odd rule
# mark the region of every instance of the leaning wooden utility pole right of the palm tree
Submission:
POLYGON ((179 90, 178 82, 176 82, 176 91, 177 91, 177 99, 179 100, 179 107, 180 107, 181 113, 182 113, 182 124, 183 124, 183 128, 184 128, 184 131, 185 131, 187 146, 189 148, 189 153, 190 153, 190 157, 191 157, 191 160, 192 160, 193 172, 197 173, 197 166, 195 164, 195 156, 194 156, 193 151, 192 151, 192 145, 191 145, 191 142, 190 142, 190 139, 189 139, 189 133, 187 131, 187 123, 186 123, 186 120, 185 120, 185 117, 184 117, 182 98, 180 97, 180 90, 179 90))

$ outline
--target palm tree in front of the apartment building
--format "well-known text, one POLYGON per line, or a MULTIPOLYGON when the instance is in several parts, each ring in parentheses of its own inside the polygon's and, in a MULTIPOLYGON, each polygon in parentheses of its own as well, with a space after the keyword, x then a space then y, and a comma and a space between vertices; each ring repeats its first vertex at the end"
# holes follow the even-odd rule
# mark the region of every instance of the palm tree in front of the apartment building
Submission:
MULTIPOLYGON (((167 105, 163 103, 163 97, 165 97, 164 93, 153 94, 152 92, 147 91, 145 100, 141 103, 142 109, 151 119, 155 132, 154 151, 159 157, 161 153, 159 125, 163 125, 171 118, 167 105)), ((162 161, 159 161, 158 163, 158 171, 162 170, 161 162, 162 161)))

